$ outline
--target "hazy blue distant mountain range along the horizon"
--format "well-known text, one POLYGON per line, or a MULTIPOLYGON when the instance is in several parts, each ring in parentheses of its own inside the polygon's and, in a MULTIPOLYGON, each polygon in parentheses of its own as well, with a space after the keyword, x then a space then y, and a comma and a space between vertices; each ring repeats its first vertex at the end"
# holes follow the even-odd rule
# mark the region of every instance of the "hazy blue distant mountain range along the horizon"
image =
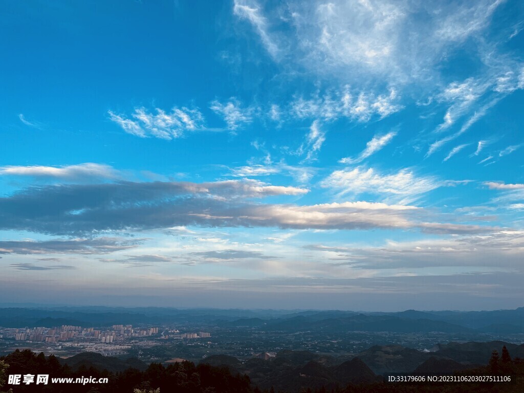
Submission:
POLYGON ((399 333, 524 333, 524 307, 498 311, 353 311, 216 310, 171 308, 2 308, 0 326, 111 326, 199 322, 221 328, 260 331, 347 331, 399 333))

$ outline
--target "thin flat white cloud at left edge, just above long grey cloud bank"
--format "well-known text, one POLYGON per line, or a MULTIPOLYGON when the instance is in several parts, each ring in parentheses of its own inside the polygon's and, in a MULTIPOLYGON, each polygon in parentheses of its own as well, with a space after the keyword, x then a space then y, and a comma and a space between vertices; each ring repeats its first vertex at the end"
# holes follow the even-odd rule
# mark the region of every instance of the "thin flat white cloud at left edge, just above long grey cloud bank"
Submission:
POLYGON ((0 175, 49 177, 64 180, 122 178, 122 174, 113 167, 93 162, 62 167, 46 167, 41 165, 5 166, 0 167, 0 175))

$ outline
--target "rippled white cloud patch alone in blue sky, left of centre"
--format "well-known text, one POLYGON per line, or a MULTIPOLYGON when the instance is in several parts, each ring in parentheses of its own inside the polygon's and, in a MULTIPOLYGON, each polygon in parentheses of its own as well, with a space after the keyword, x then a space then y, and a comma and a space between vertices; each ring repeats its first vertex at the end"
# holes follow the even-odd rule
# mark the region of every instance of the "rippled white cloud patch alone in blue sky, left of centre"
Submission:
POLYGON ((156 114, 145 108, 135 108, 133 119, 108 111, 110 119, 121 126, 128 134, 142 138, 153 136, 161 139, 181 137, 186 131, 203 127, 204 117, 198 109, 173 107, 170 113, 156 108, 156 114))

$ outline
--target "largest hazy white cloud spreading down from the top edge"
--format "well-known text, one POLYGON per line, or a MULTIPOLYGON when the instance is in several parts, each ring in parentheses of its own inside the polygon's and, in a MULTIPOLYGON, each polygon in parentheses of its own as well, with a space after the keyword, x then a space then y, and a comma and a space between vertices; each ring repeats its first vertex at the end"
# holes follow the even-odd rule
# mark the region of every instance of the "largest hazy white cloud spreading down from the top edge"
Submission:
POLYGON ((397 85, 438 80, 435 65, 468 38, 482 36, 500 3, 291 0, 264 7, 237 0, 233 12, 249 20, 279 62, 329 73, 343 83, 366 85, 378 77, 397 85))

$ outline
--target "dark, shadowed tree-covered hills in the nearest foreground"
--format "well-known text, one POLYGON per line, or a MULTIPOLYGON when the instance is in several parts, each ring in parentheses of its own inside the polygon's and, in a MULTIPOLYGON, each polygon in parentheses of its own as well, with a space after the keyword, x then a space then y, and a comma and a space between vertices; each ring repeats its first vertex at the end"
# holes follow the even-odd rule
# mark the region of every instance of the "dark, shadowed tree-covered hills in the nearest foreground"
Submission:
POLYGON ((170 365, 152 363, 149 366, 137 359, 125 361, 99 354, 75 355, 65 362, 54 356, 46 357, 29 350, 15 351, 0 358, 0 391, 13 389, 13 393, 133 393, 135 389, 160 393, 400 393, 400 392, 475 392, 521 393, 524 391, 524 362, 512 359, 506 350, 501 356, 494 353, 486 366, 466 368, 450 359, 430 357, 411 375, 495 375, 510 376, 509 383, 388 383, 377 376, 359 358, 339 365, 330 365, 329 359, 308 353, 286 352, 278 362, 253 359, 257 368, 254 378, 237 373, 237 362, 229 357, 209 359, 211 365, 181 362, 170 365), (326 362, 328 360, 328 362, 326 362), (7 370, 5 366, 7 366, 7 370), (131 367, 129 367, 131 366, 131 367), (3 369, 4 368, 4 369, 3 369), (439 373, 439 369, 441 373, 439 373), (264 371, 265 370, 265 371, 264 371), (265 374, 266 379, 260 379, 265 374), (48 374, 50 378, 93 377, 108 378, 106 384, 52 384, 6 385, 7 375, 48 374), (269 384, 268 384, 269 383, 269 384))

